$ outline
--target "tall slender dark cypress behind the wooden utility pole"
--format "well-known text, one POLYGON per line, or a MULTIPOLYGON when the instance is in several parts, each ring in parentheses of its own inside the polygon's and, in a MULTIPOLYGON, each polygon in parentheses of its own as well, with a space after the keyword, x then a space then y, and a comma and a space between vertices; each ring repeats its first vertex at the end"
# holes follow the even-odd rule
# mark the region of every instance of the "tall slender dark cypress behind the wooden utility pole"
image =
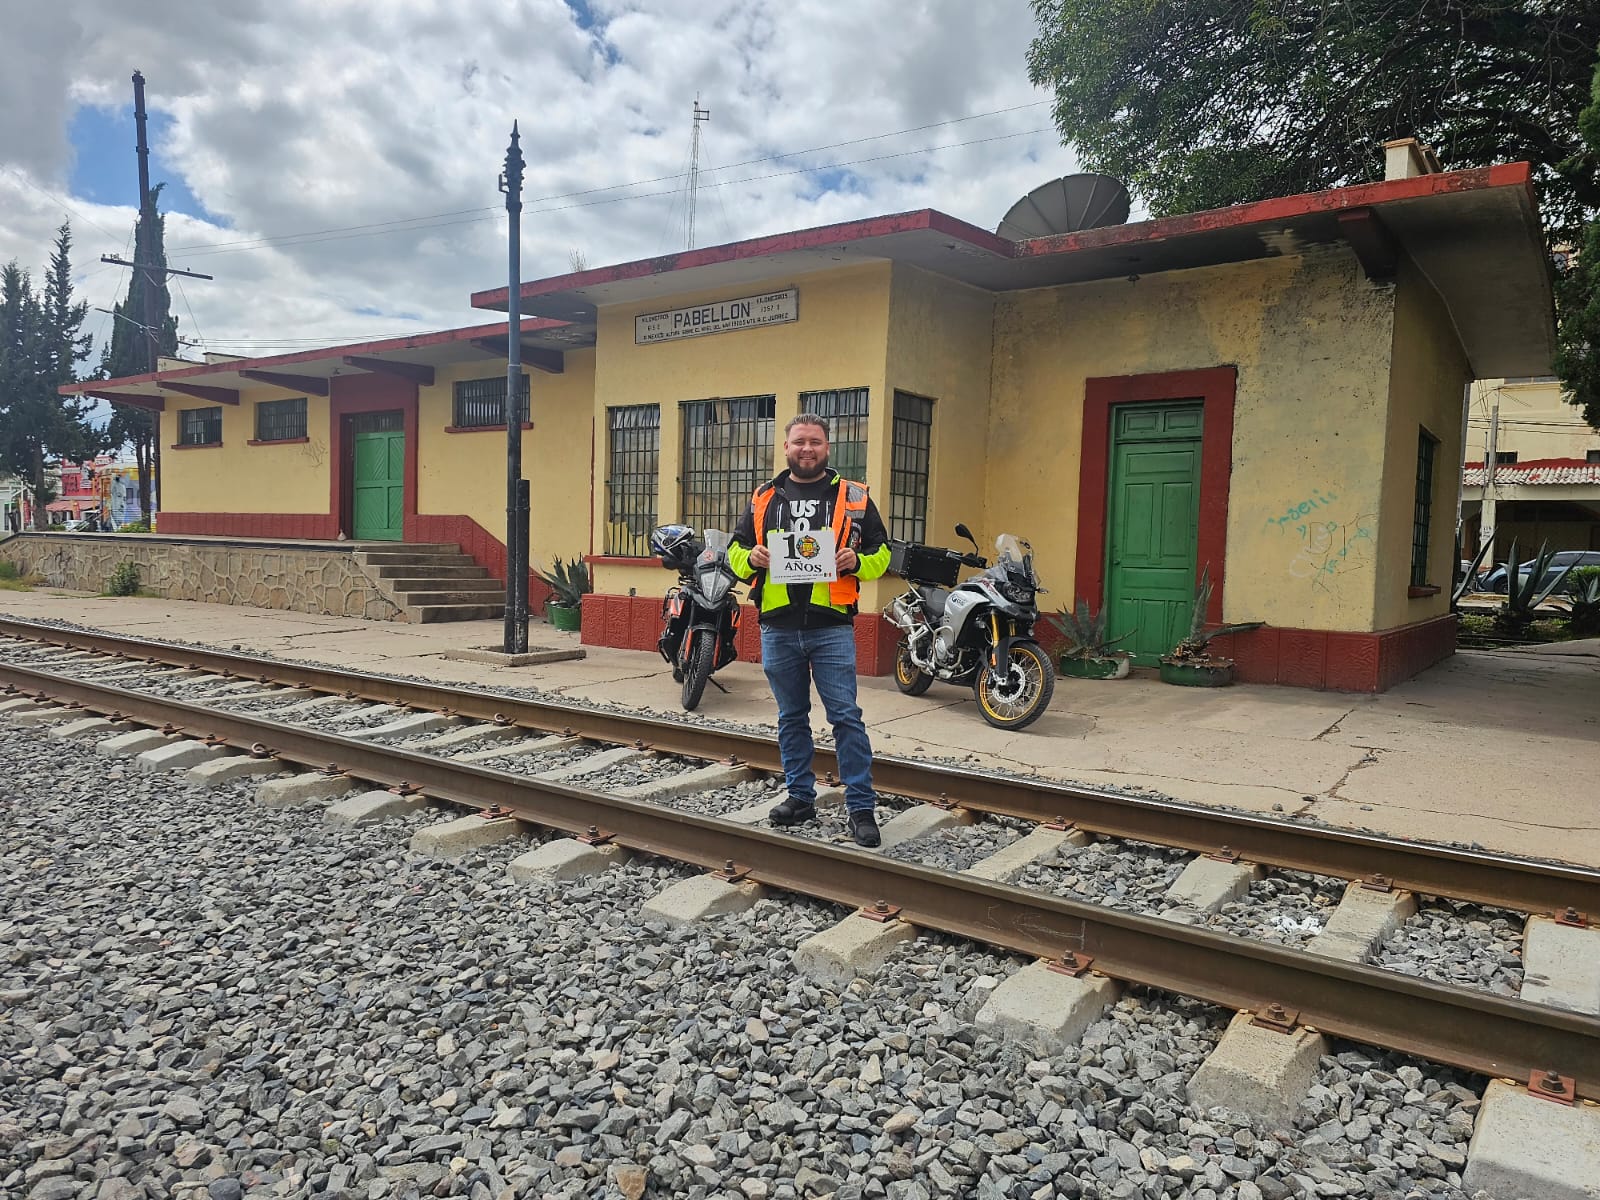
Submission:
MULTIPOLYGON (((150 189, 150 206, 160 200, 162 187, 150 189)), ((133 261, 154 262, 157 267, 166 266, 166 216, 155 214, 150 246, 146 246, 144 222, 136 221, 133 230, 133 261)), ((149 330, 157 331, 155 354, 178 354, 178 318, 173 317, 173 296, 166 286, 166 274, 157 270, 150 285, 154 302, 152 318, 146 317, 144 280, 138 272, 128 280, 128 294, 117 306, 112 320, 110 344, 101 355, 101 374, 107 379, 122 379, 130 374, 144 374, 154 370, 150 355, 149 330)), ((112 450, 133 446, 133 461, 139 470, 139 514, 150 520, 150 472, 155 462, 155 438, 160 435, 160 419, 157 413, 130 405, 114 405, 110 424, 106 437, 112 450)))

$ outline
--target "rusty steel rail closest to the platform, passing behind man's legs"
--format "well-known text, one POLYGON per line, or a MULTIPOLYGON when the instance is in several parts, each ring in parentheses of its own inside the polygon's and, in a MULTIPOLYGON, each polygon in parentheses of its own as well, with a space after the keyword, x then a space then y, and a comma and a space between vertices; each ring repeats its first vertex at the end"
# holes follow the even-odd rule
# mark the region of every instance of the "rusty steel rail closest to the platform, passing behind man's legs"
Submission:
MULTIPOLYGON (((0 618, 0 635, 291 683, 352 699, 453 712, 477 720, 510 720, 594 741, 618 744, 640 741, 666 754, 707 760, 731 757, 765 771, 782 770, 773 738, 659 717, 573 709, 474 688, 278 662, 205 646, 171 646, 32 621, 0 618)), ((816 770, 837 773, 838 765, 830 749, 818 747, 816 770)), ((1283 819, 1219 811, 1176 800, 1118 795, 1048 779, 958 771, 894 755, 874 755, 872 773, 874 782, 882 790, 934 803, 955 803, 981 813, 1064 822, 1091 834, 1152 842, 1202 854, 1237 856, 1245 862, 1282 870, 1304 870, 1347 880, 1382 877, 1389 886, 1424 896, 1448 896, 1522 912, 1576 909, 1600 914, 1600 870, 1566 862, 1541 862, 1422 842, 1395 842, 1373 834, 1299 826, 1283 819)))

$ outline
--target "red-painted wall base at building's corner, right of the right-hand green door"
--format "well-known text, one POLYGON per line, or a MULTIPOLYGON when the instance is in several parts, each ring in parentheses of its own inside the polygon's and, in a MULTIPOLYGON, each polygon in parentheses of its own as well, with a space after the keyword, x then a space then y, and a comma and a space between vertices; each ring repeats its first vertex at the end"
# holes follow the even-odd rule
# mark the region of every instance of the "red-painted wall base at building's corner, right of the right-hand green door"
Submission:
POLYGON ((1378 634, 1253 629, 1216 638, 1240 683, 1320 691, 1387 691, 1456 653, 1456 618, 1445 614, 1378 634))

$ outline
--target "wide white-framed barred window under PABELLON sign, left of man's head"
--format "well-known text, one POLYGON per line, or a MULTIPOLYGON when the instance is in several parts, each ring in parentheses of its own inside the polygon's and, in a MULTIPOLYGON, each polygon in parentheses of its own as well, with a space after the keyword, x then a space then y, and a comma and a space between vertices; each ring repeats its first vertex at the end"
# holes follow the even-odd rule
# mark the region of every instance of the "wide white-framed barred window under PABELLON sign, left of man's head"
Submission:
POLYGON ((680 510, 696 530, 733 533, 750 493, 773 477, 776 397, 736 395, 682 406, 680 510))

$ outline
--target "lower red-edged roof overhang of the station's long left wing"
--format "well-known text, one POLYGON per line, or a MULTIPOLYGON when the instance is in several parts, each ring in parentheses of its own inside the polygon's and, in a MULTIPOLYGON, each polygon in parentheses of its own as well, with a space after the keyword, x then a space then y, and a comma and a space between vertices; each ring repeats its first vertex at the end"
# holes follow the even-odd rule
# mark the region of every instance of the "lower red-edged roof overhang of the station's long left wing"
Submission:
MULTIPOLYGON (((594 330, 533 317, 523 320, 518 341, 530 366, 560 370, 565 350, 594 346, 594 330)), ((160 413, 168 398, 237 405, 240 390, 246 387, 267 386, 285 394, 328 395, 336 376, 350 374, 387 374, 430 384, 435 370, 442 366, 504 360, 506 346, 506 323, 498 322, 410 338, 296 350, 267 358, 224 358, 122 379, 83 379, 59 390, 64 395, 91 395, 110 400, 114 405, 160 413)))

